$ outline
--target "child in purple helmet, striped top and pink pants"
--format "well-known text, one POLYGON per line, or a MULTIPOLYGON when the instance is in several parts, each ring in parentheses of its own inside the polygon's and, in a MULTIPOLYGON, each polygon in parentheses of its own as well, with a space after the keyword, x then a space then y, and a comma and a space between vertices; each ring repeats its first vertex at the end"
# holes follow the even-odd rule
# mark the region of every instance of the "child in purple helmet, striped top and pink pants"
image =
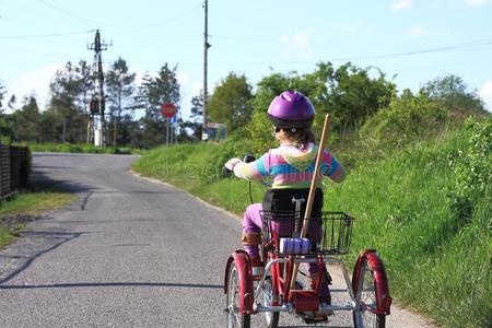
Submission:
MULTIPOLYGON (((307 200, 309 186, 314 175, 318 147, 309 127, 313 124, 315 109, 311 101, 300 92, 285 91, 277 96, 268 108, 268 116, 273 124, 276 138, 280 147, 270 149, 258 160, 244 163, 239 159, 231 159, 225 166, 234 171, 239 178, 263 179, 272 177, 271 189, 263 198, 263 203, 250 204, 244 213, 242 243, 249 255, 254 276, 261 272, 262 263, 259 257, 261 242, 261 210, 294 210, 293 197, 307 200)), ((320 167, 323 175, 340 183, 345 176, 343 167, 325 150, 320 167)), ((317 181, 313 218, 319 218, 323 209, 321 181, 317 181)), ((305 211, 305 202, 302 213, 305 211)), ((318 267, 308 266, 312 280, 317 277, 318 267)), ((328 285, 321 285, 320 297, 329 298, 328 285)), ((329 300, 326 300, 329 302, 329 300)))

